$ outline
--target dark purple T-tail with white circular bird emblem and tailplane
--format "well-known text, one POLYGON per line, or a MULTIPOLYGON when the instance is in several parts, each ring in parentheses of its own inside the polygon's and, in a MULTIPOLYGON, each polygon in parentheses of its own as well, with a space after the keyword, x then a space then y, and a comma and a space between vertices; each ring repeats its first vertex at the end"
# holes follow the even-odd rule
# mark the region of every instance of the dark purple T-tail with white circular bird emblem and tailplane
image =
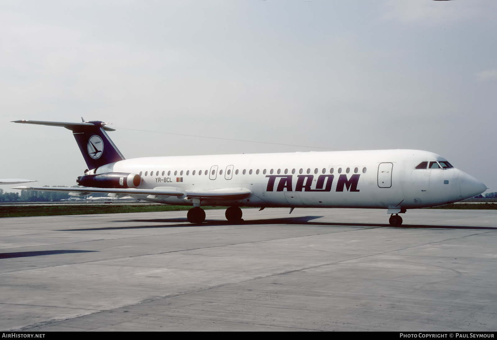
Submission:
POLYGON ((88 169, 124 160, 124 156, 107 136, 105 131, 115 131, 101 121, 82 123, 43 122, 36 120, 15 120, 13 123, 63 126, 73 131, 88 169))

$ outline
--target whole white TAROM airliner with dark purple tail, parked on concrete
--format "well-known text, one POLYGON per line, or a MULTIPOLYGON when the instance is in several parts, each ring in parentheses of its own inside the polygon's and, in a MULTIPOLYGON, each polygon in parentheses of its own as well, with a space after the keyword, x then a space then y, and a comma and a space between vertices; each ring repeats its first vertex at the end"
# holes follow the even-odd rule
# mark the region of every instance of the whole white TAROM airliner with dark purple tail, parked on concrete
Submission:
POLYGON ((17 120, 73 131, 88 169, 83 188, 17 187, 107 192, 152 202, 191 205, 191 223, 205 220, 202 205, 226 206, 226 218, 242 220, 240 207, 377 208, 401 225, 399 213, 461 201, 484 192, 478 179, 443 157, 419 150, 370 150, 149 157, 126 160, 101 121, 82 123, 17 120))

